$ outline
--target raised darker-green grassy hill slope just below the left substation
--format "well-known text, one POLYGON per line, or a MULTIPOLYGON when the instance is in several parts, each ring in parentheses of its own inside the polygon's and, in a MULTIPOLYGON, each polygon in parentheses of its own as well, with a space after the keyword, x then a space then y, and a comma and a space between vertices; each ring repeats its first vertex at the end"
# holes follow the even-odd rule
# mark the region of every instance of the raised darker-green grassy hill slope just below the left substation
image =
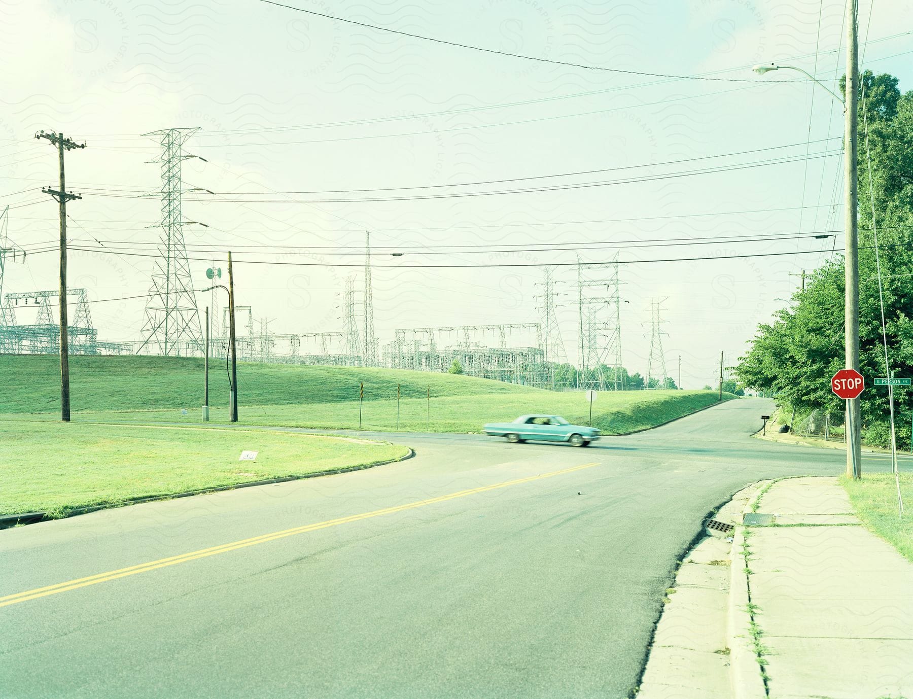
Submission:
MULTIPOLYGON (((0 412, 53 412, 60 404, 60 363, 51 355, 0 355, 0 412)), ((536 392, 526 386, 471 376, 363 367, 240 362, 238 400, 246 405, 289 405, 364 400, 536 392)), ((74 411, 188 408, 203 402, 203 360, 184 357, 87 357, 69 360, 74 411)), ((226 362, 209 364, 214 405, 227 402, 226 362)))

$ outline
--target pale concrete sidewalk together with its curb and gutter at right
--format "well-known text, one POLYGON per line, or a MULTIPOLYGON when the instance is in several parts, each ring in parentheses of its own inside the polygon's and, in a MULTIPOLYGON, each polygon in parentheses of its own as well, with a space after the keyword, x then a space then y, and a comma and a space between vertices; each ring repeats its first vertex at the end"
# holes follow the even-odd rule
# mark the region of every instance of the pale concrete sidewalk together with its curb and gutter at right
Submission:
POLYGON ((640 699, 913 696, 913 563, 836 478, 752 485, 715 519, 734 527, 685 558, 640 699))

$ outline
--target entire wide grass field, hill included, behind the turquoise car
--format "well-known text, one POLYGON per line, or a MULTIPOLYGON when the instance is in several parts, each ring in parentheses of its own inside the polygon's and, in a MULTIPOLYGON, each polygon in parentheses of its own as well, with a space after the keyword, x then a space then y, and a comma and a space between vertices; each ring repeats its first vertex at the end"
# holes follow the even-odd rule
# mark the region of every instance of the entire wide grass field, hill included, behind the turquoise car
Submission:
MULTIPOLYGON (((73 357, 73 419, 98 422, 200 421, 203 360, 161 357, 73 357), (184 415, 182 411, 186 410, 184 415)), ((0 414, 54 420, 59 405, 58 360, 52 356, 0 356, 0 414)), ((364 382, 362 428, 478 432, 483 423, 526 412, 563 415, 586 424, 582 391, 542 391, 468 376, 361 367, 242 363, 238 366, 241 423, 356 429, 359 385, 364 382), (431 400, 426 400, 428 386, 431 400)), ((224 364, 210 367, 212 422, 227 422, 224 364)), ((724 394, 724 398, 732 398, 724 394)), ((717 402, 714 391, 604 391, 593 403, 593 425, 604 433, 653 427, 717 402)))

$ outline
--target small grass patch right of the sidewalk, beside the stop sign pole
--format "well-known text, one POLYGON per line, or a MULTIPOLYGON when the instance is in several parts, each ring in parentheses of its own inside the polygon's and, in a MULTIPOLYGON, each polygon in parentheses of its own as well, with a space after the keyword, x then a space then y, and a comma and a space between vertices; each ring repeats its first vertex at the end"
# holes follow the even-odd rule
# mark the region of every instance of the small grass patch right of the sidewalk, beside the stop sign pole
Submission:
POLYGON ((897 514, 897 485, 893 474, 865 474, 862 480, 843 476, 856 515, 876 535, 913 561, 913 474, 900 474, 900 494, 907 513, 897 514))

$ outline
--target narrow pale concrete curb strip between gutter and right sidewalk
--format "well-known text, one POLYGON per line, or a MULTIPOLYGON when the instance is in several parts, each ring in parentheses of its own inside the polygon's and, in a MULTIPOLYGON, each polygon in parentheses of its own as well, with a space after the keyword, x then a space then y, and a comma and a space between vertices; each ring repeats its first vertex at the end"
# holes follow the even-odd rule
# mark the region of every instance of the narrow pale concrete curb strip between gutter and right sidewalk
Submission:
MULTIPOLYGON (((754 494, 742 510, 742 514, 751 511, 751 507, 765 492, 768 481, 761 481, 758 492, 754 494)), ((745 530, 737 525, 732 534, 732 552, 729 569, 729 610, 727 617, 727 637, 729 639, 729 681, 733 699, 767 699, 767 689, 761 677, 761 666, 751 638, 751 591, 749 584, 749 562, 742 554, 745 543, 745 530)))

